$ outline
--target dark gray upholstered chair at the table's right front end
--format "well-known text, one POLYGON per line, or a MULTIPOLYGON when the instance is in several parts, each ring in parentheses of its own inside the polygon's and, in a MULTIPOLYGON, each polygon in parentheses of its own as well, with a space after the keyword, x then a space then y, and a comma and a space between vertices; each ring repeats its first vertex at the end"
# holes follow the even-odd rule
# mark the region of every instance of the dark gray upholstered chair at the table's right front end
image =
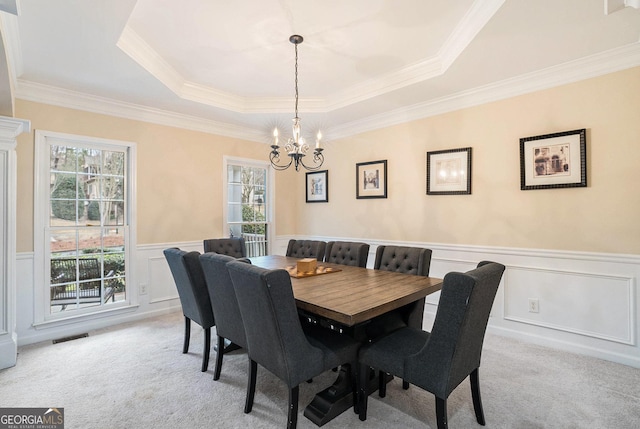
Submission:
MULTIPOLYGON (((449 394, 469 376, 476 420, 485 424, 478 368, 489 313, 504 269, 495 262, 480 262, 478 268, 467 273, 448 273, 431 332, 406 327, 362 347, 360 420, 367 418, 366 383, 372 367, 433 393, 438 429, 447 427, 449 394)), ((381 396, 385 388, 381 382, 381 396)))

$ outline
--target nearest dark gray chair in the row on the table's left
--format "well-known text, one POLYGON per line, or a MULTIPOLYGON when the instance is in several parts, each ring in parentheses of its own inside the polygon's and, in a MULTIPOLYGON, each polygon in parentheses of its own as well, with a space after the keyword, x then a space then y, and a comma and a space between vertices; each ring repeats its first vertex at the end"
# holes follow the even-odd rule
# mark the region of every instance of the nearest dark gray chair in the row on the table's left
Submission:
MULTIPOLYGON (((360 344, 324 328, 303 331, 291 278, 285 270, 267 270, 239 261, 229 262, 227 268, 244 320, 250 359, 244 412, 251 412, 260 364, 287 384, 287 427, 295 428, 299 384, 342 364, 350 363, 355 371, 360 344)), ((354 387, 355 378, 354 374, 354 387)), ((354 403, 356 398, 354 389, 354 403)))

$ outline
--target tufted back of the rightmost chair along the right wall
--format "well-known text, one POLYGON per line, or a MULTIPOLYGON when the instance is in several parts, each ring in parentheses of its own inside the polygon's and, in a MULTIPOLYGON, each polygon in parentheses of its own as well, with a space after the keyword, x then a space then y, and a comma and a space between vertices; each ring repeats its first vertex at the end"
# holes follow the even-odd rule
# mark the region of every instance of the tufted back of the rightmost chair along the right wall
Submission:
POLYGON ((429 276, 431 249, 407 246, 378 246, 375 270, 429 276))

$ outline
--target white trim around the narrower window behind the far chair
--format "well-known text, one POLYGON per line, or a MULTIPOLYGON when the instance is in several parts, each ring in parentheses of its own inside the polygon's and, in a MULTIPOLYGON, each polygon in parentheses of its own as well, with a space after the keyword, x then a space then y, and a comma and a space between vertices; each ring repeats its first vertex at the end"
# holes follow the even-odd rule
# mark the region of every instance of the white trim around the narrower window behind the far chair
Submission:
POLYGON ((232 165, 245 165, 248 167, 259 167, 267 170, 267 231, 269 231, 269 238, 267 239, 267 252, 273 254, 273 242, 276 237, 276 221, 275 221, 275 201, 276 201, 276 175, 275 170, 271 168, 271 164, 267 161, 259 161, 250 158, 238 158, 233 156, 224 155, 222 157, 222 231, 228 231, 227 227, 227 190, 229 189, 229 183, 227 182, 228 174, 227 168, 229 164, 232 165))

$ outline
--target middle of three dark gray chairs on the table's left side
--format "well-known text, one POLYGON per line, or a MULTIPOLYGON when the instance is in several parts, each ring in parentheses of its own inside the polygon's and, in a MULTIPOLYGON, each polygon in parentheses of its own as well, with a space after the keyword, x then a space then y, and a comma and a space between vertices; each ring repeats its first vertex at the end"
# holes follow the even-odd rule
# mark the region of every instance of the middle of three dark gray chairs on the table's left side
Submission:
MULTIPOLYGON (((233 290, 233 283, 229 276, 227 263, 236 259, 218 253, 205 253, 200 255, 202 271, 207 281, 209 297, 213 314, 216 315, 216 334, 218 337, 216 347, 216 368, 213 372, 213 379, 220 378, 222 369, 222 359, 225 353, 236 350, 238 347, 247 348, 247 338, 244 334, 244 323, 238 307, 236 293, 233 290), (232 344, 225 347, 224 340, 231 341, 232 344), (235 344, 237 347, 234 347, 235 344)), ((251 263, 248 259, 240 261, 251 263)))

